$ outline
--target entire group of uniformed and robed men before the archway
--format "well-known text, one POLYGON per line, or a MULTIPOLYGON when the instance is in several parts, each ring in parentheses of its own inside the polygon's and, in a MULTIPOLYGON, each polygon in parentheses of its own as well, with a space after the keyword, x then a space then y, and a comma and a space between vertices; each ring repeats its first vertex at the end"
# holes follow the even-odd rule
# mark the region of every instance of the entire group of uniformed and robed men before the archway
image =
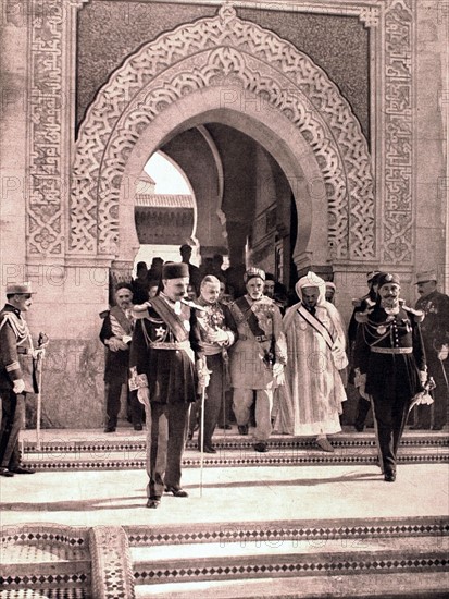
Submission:
MULTIPOLYGON (((188 245, 180 257, 165 264, 155 258, 150 269, 139 262, 136 278, 116 285, 115 305, 100 315, 104 430, 116 430, 126 395, 134 428, 146 424, 149 508, 163 492, 187 497, 180 485, 187 437, 198 430, 198 449, 215 453, 215 428, 229 429, 232 414, 238 433, 252 435, 257 452, 269 451, 274 428, 313 437, 332 452, 328 436, 341 430, 353 384, 360 394, 354 426, 363 430, 373 409, 386 481, 396 478, 412 405, 412 428, 446 425, 449 297, 437 291, 435 272, 417 274, 414 308, 401 300, 395 273, 370 272, 347 329, 333 303, 336 285, 312 271, 297 282, 291 302, 260 268, 223 271, 217 255, 199 269, 188 245)), ((34 349, 24 319, 32 293, 28 284, 10 285, 0 313, 1 476, 30 472, 20 464, 17 439, 43 351, 34 349)))

